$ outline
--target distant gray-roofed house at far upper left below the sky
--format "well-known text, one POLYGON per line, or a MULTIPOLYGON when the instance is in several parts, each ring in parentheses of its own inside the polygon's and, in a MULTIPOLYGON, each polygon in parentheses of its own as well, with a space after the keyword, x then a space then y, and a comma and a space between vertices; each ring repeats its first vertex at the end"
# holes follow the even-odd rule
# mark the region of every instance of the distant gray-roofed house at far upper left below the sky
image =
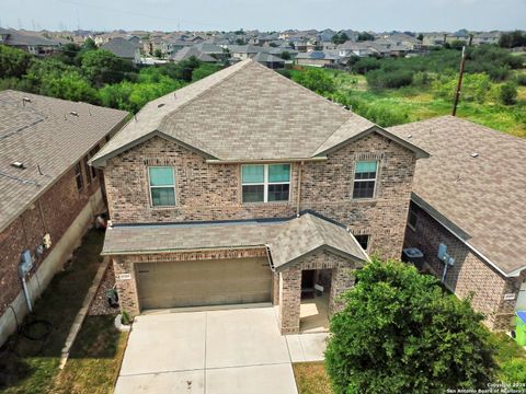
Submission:
POLYGON ((36 56, 47 56, 60 49, 60 43, 37 33, 0 27, 0 44, 25 50, 36 56))

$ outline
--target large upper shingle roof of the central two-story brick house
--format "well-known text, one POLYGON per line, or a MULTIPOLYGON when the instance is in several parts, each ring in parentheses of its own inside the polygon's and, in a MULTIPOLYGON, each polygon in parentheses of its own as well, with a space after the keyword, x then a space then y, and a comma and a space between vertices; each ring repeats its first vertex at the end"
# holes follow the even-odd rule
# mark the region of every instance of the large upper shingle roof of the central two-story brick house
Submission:
POLYGON ((107 159, 160 136, 208 160, 302 160, 376 131, 405 142, 343 106, 247 59, 148 103, 93 159, 107 159))

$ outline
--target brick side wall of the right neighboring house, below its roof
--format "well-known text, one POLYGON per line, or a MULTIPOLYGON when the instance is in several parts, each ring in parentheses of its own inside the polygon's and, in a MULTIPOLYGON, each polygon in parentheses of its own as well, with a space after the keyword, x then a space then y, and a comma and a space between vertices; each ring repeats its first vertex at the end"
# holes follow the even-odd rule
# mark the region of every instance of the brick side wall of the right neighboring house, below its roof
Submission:
POLYGON ((485 315, 484 323, 490 329, 508 329, 523 279, 505 278, 423 209, 414 204, 411 209, 418 219, 414 230, 407 228, 405 246, 420 248, 427 266, 442 279, 444 263, 437 253, 438 245, 444 243, 455 258, 444 285, 459 298, 472 297, 473 309, 485 315), (514 293, 515 299, 505 301, 507 293, 514 293))

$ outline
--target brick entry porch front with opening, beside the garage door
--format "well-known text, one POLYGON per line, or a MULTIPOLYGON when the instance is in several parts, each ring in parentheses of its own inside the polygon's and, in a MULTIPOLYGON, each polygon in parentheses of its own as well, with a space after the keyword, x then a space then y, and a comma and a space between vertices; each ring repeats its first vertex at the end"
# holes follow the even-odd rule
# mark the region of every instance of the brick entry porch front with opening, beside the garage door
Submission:
POLYGON ((318 250, 304 256, 290 268, 279 273, 279 326, 282 334, 299 333, 301 303, 301 271, 307 269, 332 269, 329 297, 329 314, 343 306, 339 297, 354 286, 353 262, 328 251, 318 250))

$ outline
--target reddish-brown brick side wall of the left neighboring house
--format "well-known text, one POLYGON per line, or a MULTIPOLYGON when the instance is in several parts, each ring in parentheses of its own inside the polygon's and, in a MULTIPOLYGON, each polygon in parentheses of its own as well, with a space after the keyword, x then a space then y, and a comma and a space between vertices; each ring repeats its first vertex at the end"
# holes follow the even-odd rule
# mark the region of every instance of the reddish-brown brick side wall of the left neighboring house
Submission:
POLYGON ((87 176, 91 174, 85 173, 83 165, 81 167, 84 179, 81 192, 77 189, 75 171, 70 169, 0 233, 0 315, 22 291, 18 274, 22 252, 30 250, 35 257, 35 247, 42 244, 44 234, 50 234, 52 247, 35 258, 34 274, 89 202, 90 196, 99 190, 99 178, 90 177, 91 182, 88 183, 87 176))

